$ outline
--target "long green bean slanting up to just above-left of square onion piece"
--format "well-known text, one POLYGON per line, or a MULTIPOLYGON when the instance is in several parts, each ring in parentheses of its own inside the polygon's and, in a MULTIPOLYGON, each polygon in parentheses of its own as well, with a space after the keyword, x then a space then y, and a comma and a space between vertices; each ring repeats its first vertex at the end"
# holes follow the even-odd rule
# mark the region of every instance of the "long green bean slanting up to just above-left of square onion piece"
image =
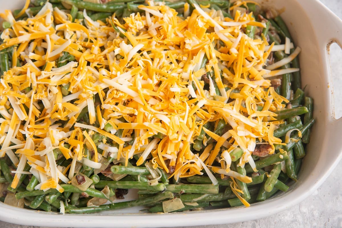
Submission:
POLYGON ((107 211, 107 210, 117 210, 117 209, 123 209, 123 208, 128 208, 128 207, 146 205, 146 204, 155 203, 155 202, 159 202, 161 200, 170 199, 170 198, 173 198, 173 193, 166 191, 153 197, 112 203, 112 204, 105 204, 105 205, 100 205, 97 207, 75 208, 75 207, 67 206, 65 209, 65 212, 74 213, 74 214, 97 213, 97 212, 107 211))

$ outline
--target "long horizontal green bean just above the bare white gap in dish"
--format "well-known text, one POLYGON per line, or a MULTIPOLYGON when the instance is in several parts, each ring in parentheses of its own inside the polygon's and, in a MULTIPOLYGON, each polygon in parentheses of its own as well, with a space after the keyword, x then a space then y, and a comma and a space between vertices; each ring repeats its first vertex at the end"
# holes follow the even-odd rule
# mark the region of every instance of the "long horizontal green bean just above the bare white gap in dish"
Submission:
POLYGON ((106 181, 106 180, 100 180, 96 185, 95 188, 104 188, 106 185, 109 188, 117 189, 117 188, 123 188, 123 189, 144 189, 144 190, 152 190, 152 191, 164 191, 166 189, 165 184, 157 184, 157 185, 150 185, 147 182, 140 182, 140 181, 106 181))

